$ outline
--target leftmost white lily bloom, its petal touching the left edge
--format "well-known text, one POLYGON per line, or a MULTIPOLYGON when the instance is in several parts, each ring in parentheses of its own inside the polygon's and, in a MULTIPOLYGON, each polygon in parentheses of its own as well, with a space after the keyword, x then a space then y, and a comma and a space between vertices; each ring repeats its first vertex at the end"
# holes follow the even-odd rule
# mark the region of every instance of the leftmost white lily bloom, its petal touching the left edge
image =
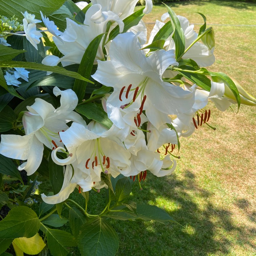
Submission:
POLYGON ((19 170, 26 170, 27 175, 33 174, 42 161, 43 148, 63 146, 58 132, 68 129, 70 120, 85 123, 82 117, 73 112, 78 99, 71 90, 61 91, 54 87, 53 93, 60 98, 60 107, 55 109, 50 103, 37 98, 23 115, 25 136, 2 134, 0 153, 13 159, 27 160, 19 170))

